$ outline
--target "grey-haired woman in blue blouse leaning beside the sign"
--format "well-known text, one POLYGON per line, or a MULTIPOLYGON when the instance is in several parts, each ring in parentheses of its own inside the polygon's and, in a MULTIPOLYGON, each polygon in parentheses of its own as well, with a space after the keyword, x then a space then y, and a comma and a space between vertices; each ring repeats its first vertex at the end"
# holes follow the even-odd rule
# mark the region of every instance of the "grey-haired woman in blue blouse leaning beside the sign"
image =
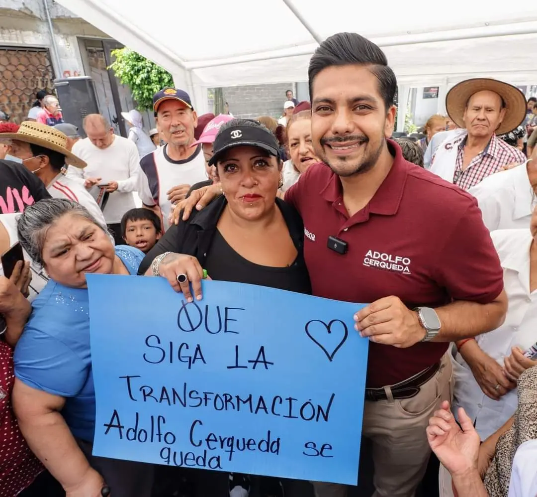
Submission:
POLYGON ((27 207, 17 228, 21 245, 50 276, 14 354, 20 429, 67 497, 99 497, 106 486, 113 497, 149 497, 152 466, 91 455, 95 390, 86 288, 86 273, 136 274, 144 254, 114 248, 106 226, 63 199, 27 207))

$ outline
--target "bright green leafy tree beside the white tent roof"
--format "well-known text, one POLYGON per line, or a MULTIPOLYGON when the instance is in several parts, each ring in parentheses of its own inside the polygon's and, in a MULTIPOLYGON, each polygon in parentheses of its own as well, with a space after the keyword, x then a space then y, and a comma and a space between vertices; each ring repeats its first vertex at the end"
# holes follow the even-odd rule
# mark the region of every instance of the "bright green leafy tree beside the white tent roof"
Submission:
POLYGON ((171 74, 154 62, 130 48, 119 48, 112 52, 112 69, 121 84, 127 84, 138 110, 153 109, 153 95, 164 87, 173 87, 171 74))

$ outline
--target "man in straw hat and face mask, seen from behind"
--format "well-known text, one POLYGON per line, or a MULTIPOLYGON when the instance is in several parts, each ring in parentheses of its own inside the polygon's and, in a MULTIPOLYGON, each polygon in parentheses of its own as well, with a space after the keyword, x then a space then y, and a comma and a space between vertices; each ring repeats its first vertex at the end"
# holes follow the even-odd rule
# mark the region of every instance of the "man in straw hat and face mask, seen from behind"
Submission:
POLYGON ((24 165, 19 168, 30 171, 34 178, 37 176, 50 196, 78 202, 98 221, 105 222, 103 212, 84 184, 62 173, 66 164, 77 168, 86 166, 83 160, 67 150, 66 135, 45 124, 24 122, 16 133, 0 134, 0 141, 5 143, 6 140, 10 140, 13 156, 24 165))

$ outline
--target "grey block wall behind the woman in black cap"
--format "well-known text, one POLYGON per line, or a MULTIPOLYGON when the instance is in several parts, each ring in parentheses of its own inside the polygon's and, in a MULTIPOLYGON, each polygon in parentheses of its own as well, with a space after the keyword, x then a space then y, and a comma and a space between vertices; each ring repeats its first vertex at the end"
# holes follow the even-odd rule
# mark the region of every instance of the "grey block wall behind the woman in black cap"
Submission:
POLYGON ((252 118, 272 116, 279 118, 284 110, 286 90, 293 89, 293 83, 259 84, 224 88, 224 101, 235 117, 252 118))

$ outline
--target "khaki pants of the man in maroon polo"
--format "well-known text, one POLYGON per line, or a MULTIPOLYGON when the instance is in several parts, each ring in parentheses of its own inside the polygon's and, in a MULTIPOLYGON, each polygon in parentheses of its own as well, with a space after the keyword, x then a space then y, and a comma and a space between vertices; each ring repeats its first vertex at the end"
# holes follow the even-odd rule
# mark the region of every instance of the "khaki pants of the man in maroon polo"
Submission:
MULTIPOLYGON (((372 442, 373 497, 414 497, 429 462, 425 429, 441 402, 451 402, 452 366, 448 353, 440 369, 411 399, 366 401, 362 435, 372 442)), ((344 485, 314 482, 317 497, 346 497, 344 485)))

